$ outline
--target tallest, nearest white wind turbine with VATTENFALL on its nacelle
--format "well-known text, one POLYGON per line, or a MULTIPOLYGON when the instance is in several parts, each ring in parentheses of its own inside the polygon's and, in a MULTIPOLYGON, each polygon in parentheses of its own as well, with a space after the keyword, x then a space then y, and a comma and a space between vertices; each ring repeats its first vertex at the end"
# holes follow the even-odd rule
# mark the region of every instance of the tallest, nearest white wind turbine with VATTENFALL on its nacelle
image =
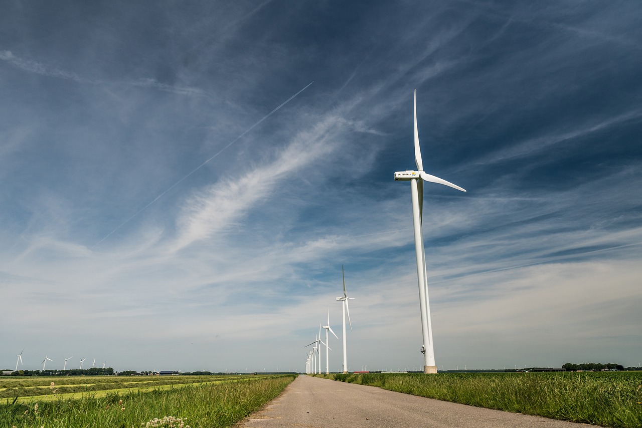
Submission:
POLYGON ((422 215, 424 204, 424 181, 445 184, 465 192, 456 184, 450 183, 435 175, 426 174, 421 161, 419 148, 419 132, 417 131, 417 91, 415 90, 415 163, 418 171, 395 172, 395 180, 410 181, 412 195, 412 220, 415 229, 415 253, 417 256, 417 283, 419 285, 419 307, 421 308, 421 333, 424 344, 421 352, 424 354, 424 373, 437 373, 435 366, 435 350, 433 349, 433 330, 430 321, 430 306, 428 304, 428 275, 426 274, 426 253, 424 249, 424 234, 422 231, 422 215))

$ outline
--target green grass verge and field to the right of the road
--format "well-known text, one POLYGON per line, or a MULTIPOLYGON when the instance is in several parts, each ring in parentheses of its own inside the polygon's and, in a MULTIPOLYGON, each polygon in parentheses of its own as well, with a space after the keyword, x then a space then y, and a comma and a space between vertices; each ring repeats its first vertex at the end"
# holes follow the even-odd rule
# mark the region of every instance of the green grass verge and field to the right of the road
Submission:
POLYGON ((364 373, 334 379, 420 397, 616 428, 642 427, 642 372, 364 373))

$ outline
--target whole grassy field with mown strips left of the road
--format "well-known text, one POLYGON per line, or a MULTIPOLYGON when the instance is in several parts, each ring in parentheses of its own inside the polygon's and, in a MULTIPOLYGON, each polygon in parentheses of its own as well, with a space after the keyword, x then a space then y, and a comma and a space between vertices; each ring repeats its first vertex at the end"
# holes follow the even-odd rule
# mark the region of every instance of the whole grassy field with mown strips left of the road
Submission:
POLYGON ((0 380, 4 427, 229 427, 277 397, 282 376, 0 380), (51 382, 59 384, 51 384, 51 382), (180 419, 180 420, 178 420, 180 419), (180 425, 180 424, 183 425, 180 425))

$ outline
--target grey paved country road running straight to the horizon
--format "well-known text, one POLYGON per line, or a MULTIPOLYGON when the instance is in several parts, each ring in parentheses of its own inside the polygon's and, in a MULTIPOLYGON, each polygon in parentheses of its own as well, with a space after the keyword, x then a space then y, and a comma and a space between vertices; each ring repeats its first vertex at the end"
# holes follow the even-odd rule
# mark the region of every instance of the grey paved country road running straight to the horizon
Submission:
POLYGON ((299 376, 280 397, 238 426, 579 428, 587 425, 415 397, 374 386, 299 376))

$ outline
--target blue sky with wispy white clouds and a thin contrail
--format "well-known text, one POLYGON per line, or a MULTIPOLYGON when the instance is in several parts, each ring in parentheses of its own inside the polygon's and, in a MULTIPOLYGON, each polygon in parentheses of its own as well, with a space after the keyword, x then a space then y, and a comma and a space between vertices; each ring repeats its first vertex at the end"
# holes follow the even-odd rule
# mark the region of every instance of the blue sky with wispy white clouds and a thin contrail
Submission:
POLYGON ((29 369, 304 370, 328 309, 340 334, 345 265, 349 368, 419 367, 393 180, 415 168, 414 89, 424 169, 468 190, 426 186, 438 366, 637 365, 641 19, 636 1, 9 2, 0 366, 25 348, 29 369))

